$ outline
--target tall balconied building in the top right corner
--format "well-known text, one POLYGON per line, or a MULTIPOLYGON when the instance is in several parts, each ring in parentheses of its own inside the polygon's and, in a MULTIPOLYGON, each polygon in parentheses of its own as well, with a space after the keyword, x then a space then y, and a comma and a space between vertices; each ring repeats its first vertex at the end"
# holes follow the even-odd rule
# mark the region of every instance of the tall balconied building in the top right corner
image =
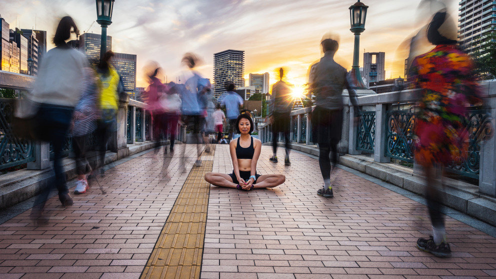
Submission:
POLYGON ((459 43, 465 51, 473 53, 496 29, 496 1, 461 0, 458 10, 459 43))

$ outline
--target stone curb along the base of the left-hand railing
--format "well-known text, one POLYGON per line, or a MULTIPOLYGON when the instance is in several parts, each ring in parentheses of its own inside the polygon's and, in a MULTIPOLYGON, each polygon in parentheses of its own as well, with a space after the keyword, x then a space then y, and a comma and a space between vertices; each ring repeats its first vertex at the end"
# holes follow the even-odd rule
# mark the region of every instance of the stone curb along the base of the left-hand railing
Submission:
MULTIPOLYGON (((160 144, 163 145, 162 141, 160 144)), ((179 143, 179 142, 178 142, 179 143)), ((155 142, 144 141, 136 144, 128 144, 125 153, 131 156, 143 150, 153 148, 155 142)), ((124 157, 127 157, 124 156, 124 157)), ((88 152, 88 162, 91 167, 96 163, 96 152, 88 152)), ((118 159, 117 153, 107 151, 105 153, 105 164, 114 162, 118 159)), ((69 181, 76 177, 76 168, 74 159, 63 158, 62 165, 64 168, 65 179, 69 181)), ((0 176, 0 209, 10 207, 27 200, 41 192, 41 189, 47 187, 53 182, 54 175, 52 168, 40 170, 21 169, 11 173, 6 173, 0 176)))

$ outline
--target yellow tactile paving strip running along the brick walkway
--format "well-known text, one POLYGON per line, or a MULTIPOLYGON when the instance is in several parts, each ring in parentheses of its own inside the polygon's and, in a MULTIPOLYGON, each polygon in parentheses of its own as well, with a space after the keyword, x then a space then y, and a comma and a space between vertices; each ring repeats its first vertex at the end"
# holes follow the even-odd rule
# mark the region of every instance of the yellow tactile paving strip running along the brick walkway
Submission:
POLYGON ((193 166, 141 273, 144 278, 199 278, 215 145, 193 166))

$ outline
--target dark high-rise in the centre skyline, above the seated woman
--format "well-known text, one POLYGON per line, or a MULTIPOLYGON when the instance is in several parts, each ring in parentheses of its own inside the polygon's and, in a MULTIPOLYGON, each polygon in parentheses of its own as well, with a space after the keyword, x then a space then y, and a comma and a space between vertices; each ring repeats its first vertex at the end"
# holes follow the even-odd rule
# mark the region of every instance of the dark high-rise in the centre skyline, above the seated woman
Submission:
POLYGON ((236 88, 244 87, 244 50, 227 49, 213 54, 213 97, 225 95, 225 84, 233 82, 236 88))

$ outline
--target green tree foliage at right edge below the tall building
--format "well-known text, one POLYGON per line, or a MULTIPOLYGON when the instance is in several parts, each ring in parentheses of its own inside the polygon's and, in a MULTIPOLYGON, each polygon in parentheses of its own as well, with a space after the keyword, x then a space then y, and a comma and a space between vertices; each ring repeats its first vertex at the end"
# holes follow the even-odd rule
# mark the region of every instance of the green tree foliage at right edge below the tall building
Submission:
POLYGON ((483 44, 474 53, 475 75, 478 79, 496 78, 496 33, 485 36, 483 44))

